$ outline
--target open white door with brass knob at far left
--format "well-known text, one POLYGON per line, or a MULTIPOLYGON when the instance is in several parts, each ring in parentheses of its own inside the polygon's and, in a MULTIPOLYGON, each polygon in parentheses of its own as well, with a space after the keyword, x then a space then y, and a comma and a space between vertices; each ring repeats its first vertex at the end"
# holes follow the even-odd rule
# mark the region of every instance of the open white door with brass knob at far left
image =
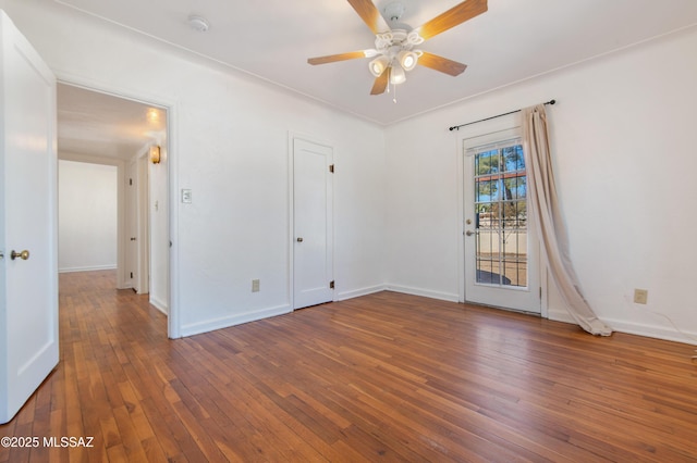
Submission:
POLYGON ((0 424, 58 364, 56 77, 0 11, 0 424))

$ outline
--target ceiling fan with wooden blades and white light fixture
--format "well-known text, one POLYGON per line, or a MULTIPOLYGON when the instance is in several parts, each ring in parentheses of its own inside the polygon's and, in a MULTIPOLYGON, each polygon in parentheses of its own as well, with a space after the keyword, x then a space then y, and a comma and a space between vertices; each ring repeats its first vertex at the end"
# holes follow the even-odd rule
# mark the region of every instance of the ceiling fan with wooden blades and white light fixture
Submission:
POLYGON ((389 3, 383 9, 392 27, 388 25, 371 0, 347 1, 375 34, 375 48, 310 58, 307 62, 327 64, 357 58, 374 58, 368 64, 370 73, 376 78, 370 95, 381 95, 386 89, 389 91, 389 84, 395 86, 404 83, 406 72, 412 71, 417 64, 451 76, 462 74, 467 65, 421 51, 416 47, 487 11, 487 0, 465 0, 420 27, 412 29, 399 22, 404 14, 404 5, 399 1, 389 3))

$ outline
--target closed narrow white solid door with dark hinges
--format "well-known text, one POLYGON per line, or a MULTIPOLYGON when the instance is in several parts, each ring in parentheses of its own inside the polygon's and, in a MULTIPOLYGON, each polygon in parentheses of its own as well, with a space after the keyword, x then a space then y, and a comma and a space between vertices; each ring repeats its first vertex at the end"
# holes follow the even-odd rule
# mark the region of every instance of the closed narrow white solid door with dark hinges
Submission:
POLYGON ((293 309, 331 301, 332 149, 293 140, 293 309))

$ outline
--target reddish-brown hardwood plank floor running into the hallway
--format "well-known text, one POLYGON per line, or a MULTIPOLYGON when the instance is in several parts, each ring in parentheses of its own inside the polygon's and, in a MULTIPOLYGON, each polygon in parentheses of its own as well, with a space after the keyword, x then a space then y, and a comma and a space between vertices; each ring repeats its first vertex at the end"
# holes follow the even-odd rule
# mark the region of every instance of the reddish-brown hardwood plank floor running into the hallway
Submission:
POLYGON ((168 340, 114 285, 60 276, 61 362, 0 426, 41 445, 0 462, 697 461, 693 346, 393 292, 168 340))

